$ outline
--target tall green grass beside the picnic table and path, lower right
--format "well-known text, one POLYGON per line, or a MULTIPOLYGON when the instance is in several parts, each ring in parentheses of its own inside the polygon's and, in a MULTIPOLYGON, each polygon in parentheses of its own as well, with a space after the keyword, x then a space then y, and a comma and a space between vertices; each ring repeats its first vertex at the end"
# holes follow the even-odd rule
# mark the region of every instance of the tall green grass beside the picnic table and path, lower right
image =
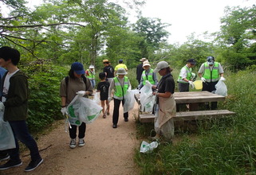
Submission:
MULTIPOLYGON (((200 122, 193 131, 175 134, 175 142, 160 142, 152 154, 136 150, 141 174, 256 174, 255 71, 226 73, 228 96, 219 109, 236 115, 200 122)), ((153 125, 140 125, 147 140, 153 125)))

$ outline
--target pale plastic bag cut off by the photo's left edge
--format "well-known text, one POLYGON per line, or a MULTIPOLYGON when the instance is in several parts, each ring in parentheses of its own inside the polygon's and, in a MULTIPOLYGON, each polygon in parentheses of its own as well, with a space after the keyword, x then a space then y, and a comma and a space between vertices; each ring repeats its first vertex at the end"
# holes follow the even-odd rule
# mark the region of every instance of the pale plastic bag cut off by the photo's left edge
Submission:
POLYGON ((10 123, 3 120, 3 112, 0 111, 0 150, 8 150, 15 147, 13 130, 10 127, 10 123))

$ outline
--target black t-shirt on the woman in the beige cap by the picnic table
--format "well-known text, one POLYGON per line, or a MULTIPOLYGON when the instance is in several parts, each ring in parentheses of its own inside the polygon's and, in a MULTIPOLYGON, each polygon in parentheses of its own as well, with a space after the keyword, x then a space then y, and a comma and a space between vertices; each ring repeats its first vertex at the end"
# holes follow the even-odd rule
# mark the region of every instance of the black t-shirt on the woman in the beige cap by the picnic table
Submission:
POLYGON ((157 85, 158 92, 165 93, 165 91, 170 91, 171 94, 174 94, 175 91, 175 82, 171 73, 168 73, 166 76, 163 76, 160 80, 160 83, 157 85))

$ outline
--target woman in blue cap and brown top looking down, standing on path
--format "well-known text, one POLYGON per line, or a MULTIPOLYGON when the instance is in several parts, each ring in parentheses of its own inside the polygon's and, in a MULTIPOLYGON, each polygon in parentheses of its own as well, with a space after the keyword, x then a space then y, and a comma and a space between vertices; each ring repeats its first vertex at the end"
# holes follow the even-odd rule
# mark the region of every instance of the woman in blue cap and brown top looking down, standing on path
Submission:
MULTIPOLYGON (((60 96, 61 96, 61 113, 67 114, 67 106, 72 102, 76 95, 88 97, 93 94, 93 88, 90 80, 85 77, 85 69, 83 64, 74 62, 69 70, 69 76, 61 80, 60 96)), ((81 122, 78 126, 78 146, 85 146, 85 122, 81 122)), ((69 137, 71 138, 69 147, 76 147, 77 125, 71 125, 69 128, 69 137)))

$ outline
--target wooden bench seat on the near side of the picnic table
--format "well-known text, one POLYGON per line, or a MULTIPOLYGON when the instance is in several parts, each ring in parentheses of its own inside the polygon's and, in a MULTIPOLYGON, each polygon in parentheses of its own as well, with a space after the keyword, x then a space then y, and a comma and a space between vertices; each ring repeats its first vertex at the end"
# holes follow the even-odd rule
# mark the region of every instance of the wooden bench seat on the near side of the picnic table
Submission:
MULTIPOLYGON (((218 119, 235 113, 228 110, 210 110, 210 111, 181 111, 177 112, 174 121, 189 121, 202 119, 218 119)), ((140 122, 154 122, 155 116, 152 114, 140 114, 140 122)))

